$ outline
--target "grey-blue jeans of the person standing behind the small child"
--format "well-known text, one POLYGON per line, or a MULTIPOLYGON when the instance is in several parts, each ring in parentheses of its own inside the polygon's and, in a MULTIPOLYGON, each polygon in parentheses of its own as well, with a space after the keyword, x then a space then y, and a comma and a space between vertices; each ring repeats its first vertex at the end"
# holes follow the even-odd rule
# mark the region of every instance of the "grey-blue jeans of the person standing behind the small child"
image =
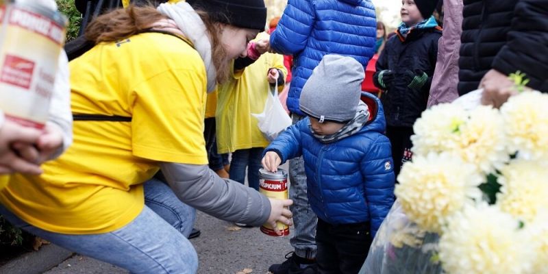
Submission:
MULTIPOLYGON (((304 116, 292 114, 293 124, 304 119, 304 116)), ((289 199, 293 200, 289 207, 293 214, 293 227, 295 233, 289 242, 295 253, 301 258, 316 258, 316 223, 318 218, 306 194, 306 173, 302 157, 289 160, 289 199)))

